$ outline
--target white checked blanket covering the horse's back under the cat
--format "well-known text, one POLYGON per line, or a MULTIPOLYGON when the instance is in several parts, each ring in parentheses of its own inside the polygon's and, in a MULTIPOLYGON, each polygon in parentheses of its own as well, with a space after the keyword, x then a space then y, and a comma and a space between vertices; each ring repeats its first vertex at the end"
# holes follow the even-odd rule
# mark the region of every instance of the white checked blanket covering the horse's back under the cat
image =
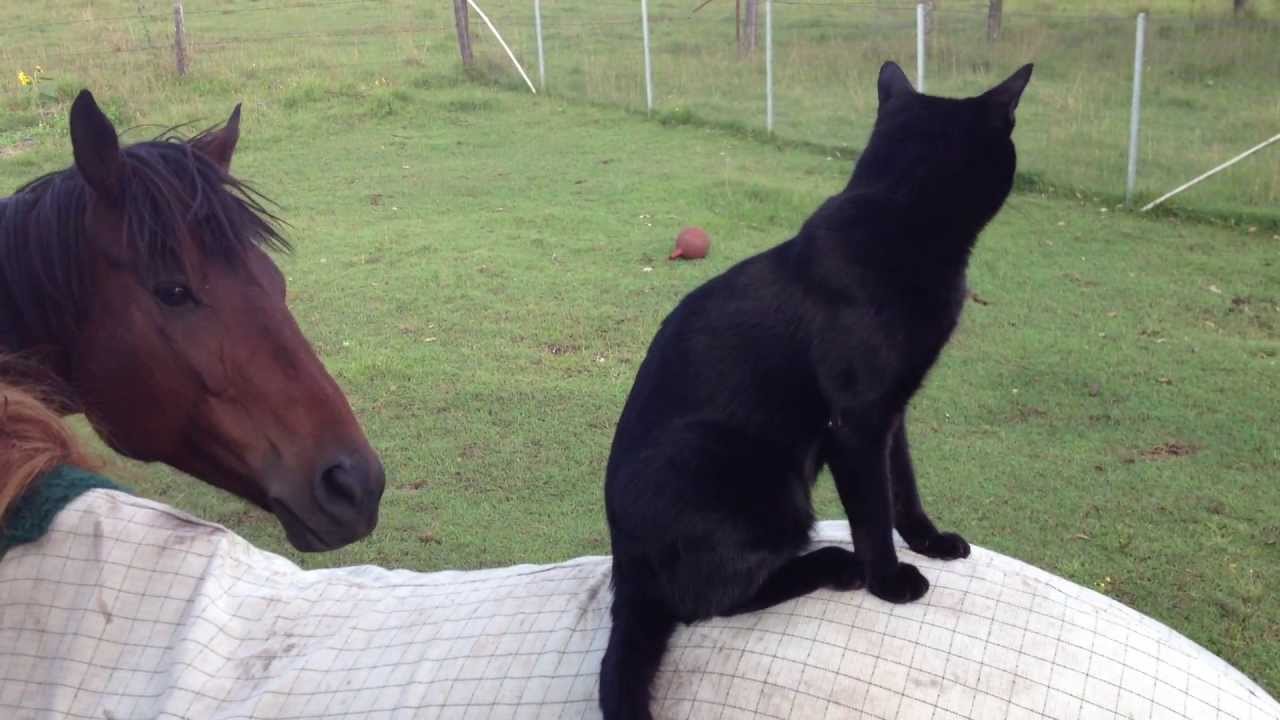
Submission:
MULTIPOLYGON (((823 523, 815 542, 849 544, 823 523)), ((915 603, 817 592, 681 628, 663 719, 1276 720, 1165 625, 1016 560, 940 562, 915 603)), ((0 561, 0 717, 598 717, 609 562, 298 569, 95 489, 0 561)))

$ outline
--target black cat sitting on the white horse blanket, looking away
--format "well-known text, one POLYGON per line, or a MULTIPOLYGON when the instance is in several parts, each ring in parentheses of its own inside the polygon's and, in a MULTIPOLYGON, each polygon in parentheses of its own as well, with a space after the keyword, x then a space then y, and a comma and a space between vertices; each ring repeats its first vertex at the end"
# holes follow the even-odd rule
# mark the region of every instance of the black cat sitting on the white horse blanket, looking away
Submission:
POLYGON ((607 720, 650 717, 676 623, 822 587, 916 600, 928 582, 897 561, 895 527, 922 555, 969 555, 920 505, 904 414, 955 329, 974 241, 1012 186, 1014 109, 1030 72, 955 100, 915 92, 886 63, 849 186, 796 237, 692 291, 663 322, 605 479, 607 720), (856 555, 801 555, 824 465, 856 555))

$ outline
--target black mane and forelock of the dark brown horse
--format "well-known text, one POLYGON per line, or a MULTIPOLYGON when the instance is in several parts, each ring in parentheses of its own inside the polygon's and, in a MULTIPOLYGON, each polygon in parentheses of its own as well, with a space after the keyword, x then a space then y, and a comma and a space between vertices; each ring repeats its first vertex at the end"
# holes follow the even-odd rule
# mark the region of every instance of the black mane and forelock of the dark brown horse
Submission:
MULTIPOLYGON (((180 273, 192 228, 202 254, 233 264, 251 247, 289 250, 279 218, 265 208, 270 201, 196 149, 206 137, 183 140, 170 129, 120 150, 124 242, 140 279, 180 273)), ((76 325, 87 282, 88 196, 73 165, 0 200, 0 310, 8 300, 38 342, 76 325)))

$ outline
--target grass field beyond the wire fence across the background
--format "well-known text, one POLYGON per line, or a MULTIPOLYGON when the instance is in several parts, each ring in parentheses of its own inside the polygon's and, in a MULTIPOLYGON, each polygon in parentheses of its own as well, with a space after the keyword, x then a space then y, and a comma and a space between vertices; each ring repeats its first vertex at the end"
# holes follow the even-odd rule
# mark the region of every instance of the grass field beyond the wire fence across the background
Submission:
MULTIPOLYGON (((650 105, 639 0, 477 3, 541 94, 648 111, 668 123, 772 133, 841 158, 851 156, 870 131, 881 63, 895 59, 916 76, 914 3, 759 0, 755 49, 744 51, 739 3, 648 0, 650 105)), ((177 82, 169 1, 59 4, 42 15, 0 10, 0 68, 36 76, 38 65, 46 105, 65 100, 72 86, 148 97, 177 82)), ((191 69, 183 82, 241 92, 265 88, 265 101, 285 106, 298 92, 362 96, 460 77, 452 8, 443 1, 187 0, 184 19, 191 69)), ((1134 17, 1006 10, 992 33, 987 3, 942 0, 928 13, 927 28, 923 65, 931 94, 973 95, 1036 63, 1019 108, 1025 181, 1106 201, 1124 195, 1134 17)), ((525 87, 475 13, 471 36, 471 79, 525 87)), ((1137 201, 1280 132, 1276 47, 1280 23, 1267 18, 1149 18, 1137 201)), ((0 147, 24 131, 23 123, 32 120, 28 110, 41 105, 29 86, 4 87, 0 100, 10 113, 0 119, 0 147)), ((1171 202, 1226 215, 1280 217, 1277 149, 1171 202)))

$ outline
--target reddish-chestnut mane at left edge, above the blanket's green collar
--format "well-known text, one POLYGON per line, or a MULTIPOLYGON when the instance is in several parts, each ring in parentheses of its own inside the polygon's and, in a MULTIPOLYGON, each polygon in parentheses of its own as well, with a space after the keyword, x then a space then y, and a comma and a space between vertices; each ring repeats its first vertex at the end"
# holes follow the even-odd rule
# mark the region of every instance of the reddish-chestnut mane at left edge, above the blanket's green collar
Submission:
POLYGON ((0 520, 37 478, 54 468, 99 469, 51 409, 51 398, 6 379, 9 363, 0 359, 0 520))

